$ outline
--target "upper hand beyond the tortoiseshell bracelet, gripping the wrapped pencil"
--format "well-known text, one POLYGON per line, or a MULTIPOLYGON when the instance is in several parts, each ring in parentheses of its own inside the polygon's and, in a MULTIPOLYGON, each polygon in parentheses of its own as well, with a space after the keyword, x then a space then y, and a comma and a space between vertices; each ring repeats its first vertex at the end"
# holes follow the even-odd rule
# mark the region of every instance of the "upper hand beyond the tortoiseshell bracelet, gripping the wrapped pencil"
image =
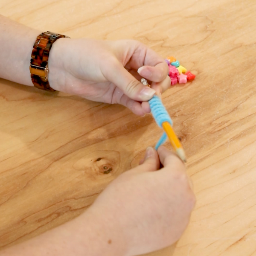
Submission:
POLYGON ((167 90, 170 79, 164 59, 138 41, 60 38, 49 55, 49 84, 143 116, 150 112, 147 101, 167 90), (140 83, 141 77, 152 82, 152 89, 140 83))

